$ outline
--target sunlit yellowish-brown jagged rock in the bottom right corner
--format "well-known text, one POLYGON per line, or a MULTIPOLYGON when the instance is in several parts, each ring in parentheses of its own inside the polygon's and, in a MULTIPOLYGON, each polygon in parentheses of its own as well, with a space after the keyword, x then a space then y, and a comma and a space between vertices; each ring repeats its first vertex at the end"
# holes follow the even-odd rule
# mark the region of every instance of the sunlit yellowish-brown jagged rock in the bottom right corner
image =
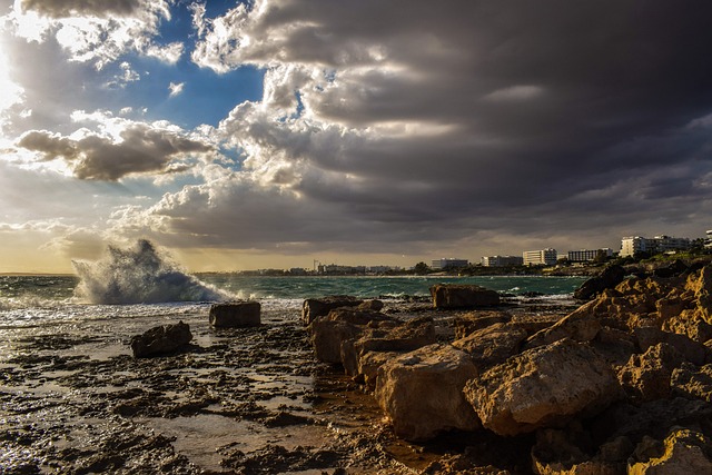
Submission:
POLYGON ((712 441, 689 428, 676 428, 662 444, 641 443, 630 475, 691 475, 712 473, 712 441), (642 459, 640 459, 642 458, 642 459))

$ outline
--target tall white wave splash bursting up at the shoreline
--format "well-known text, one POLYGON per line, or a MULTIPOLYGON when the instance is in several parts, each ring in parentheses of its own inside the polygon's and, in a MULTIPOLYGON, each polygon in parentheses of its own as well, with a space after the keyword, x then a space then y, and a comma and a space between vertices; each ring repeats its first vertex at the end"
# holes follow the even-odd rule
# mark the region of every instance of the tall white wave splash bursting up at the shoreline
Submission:
POLYGON ((215 301, 229 295, 185 274, 146 239, 132 249, 108 246, 97 261, 72 260, 80 278, 75 295, 91 304, 215 301))

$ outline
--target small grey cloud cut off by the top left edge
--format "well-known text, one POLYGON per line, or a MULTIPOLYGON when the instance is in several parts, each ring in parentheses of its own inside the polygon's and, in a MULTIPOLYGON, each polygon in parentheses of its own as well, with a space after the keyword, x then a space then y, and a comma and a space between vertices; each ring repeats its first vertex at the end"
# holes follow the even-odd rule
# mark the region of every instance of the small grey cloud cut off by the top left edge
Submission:
POLYGON ((34 10, 51 18, 72 16, 129 16, 138 10, 142 0, 22 0, 23 10, 34 10))

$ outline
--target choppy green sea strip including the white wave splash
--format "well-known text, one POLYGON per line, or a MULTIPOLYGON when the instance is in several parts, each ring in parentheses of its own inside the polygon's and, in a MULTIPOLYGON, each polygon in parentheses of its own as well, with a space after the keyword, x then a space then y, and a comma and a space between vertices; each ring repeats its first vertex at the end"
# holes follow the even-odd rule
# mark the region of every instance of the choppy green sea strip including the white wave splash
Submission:
POLYGON ((253 276, 191 275, 148 240, 109 247, 96 261, 72 263, 76 275, 0 275, 0 329, 91 319, 180 317, 207 313, 216 301, 250 299, 271 314, 294 315, 307 298, 350 295, 404 299, 429 296, 435 284, 475 284, 512 301, 571 300, 582 277, 543 276, 253 276))

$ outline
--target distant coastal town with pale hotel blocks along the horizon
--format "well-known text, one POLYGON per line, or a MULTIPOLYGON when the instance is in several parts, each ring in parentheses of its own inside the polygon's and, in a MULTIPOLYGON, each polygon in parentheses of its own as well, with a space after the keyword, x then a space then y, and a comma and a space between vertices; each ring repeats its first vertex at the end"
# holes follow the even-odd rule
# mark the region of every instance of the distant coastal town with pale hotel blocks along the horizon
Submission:
POLYGON ((411 268, 396 266, 342 266, 322 264, 314 260, 314 267, 285 269, 248 270, 246 275, 293 275, 293 276, 336 276, 336 275, 491 275, 491 274, 541 274, 558 270, 561 274, 576 274, 577 268, 601 266, 612 260, 622 264, 634 263, 656 255, 674 256, 681 253, 712 254, 712 229, 705 237, 629 236, 621 239, 621 249, 611 248, 578 249, 560 254, 554 248, 524 250, 521 256, 483 256, 479 263, 448 257, 433 259, 431 264, 417 263, 411 268), (568 270, 566 270, 568 269, 568 270))

